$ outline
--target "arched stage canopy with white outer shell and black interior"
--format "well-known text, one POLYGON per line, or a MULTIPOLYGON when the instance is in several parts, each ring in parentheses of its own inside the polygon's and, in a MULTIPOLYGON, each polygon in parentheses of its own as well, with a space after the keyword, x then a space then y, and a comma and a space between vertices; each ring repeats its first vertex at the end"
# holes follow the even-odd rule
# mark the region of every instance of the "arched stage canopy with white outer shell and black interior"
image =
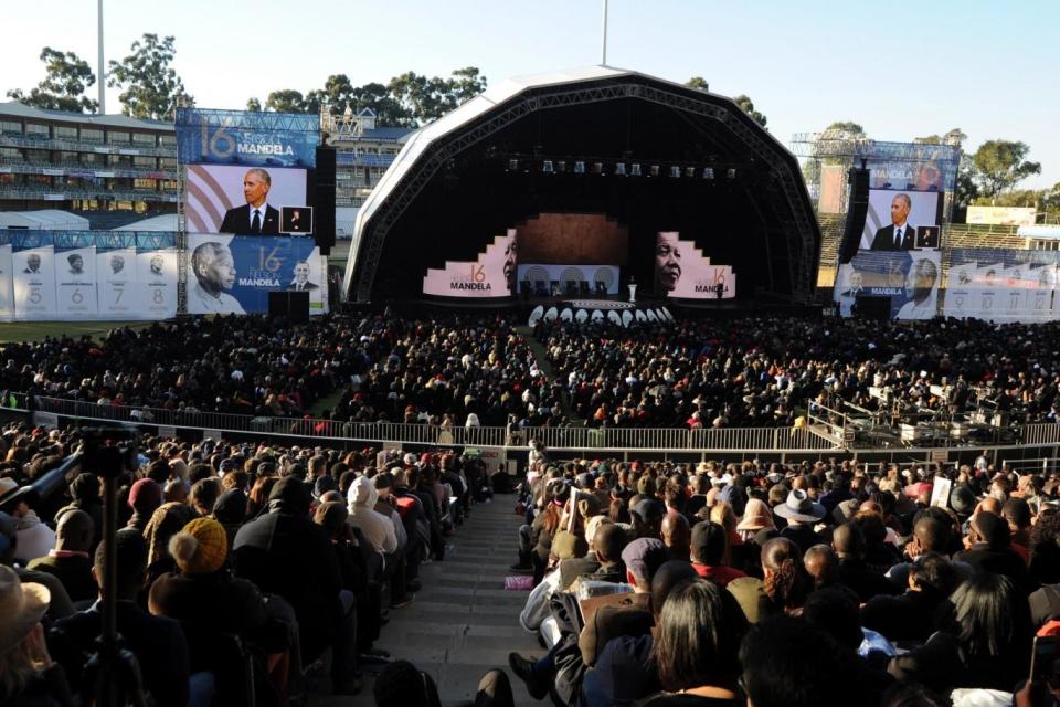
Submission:
MULTIPOLYGON (((630 211, 635 204, 619 202, 654 199, 653 217, 661 217, 657 220, 665 221, 668 209, 683 208, 690 223, 692 202, 709 201, 724 212, 719 220, 729 230, 727 240, 740 246, 721 244, 716 262, 728 263, 754 251, 762 271, 751 278, 757 289, 801 304, 812 300, 820 229, 795 156, 728 97, 606 65, 509 78, 411 135, 357 214, 344 278, 348 298, 370 302, 398 296, 401 281, 409 289, 410 277, 417 283, 425 272, 415 257, 433 258, 428 263, 433 266, 459 260, 438 251, 436 244, 453 243, 464 232, 473 232, 481 242, 487 233, 480 231, 487 225, 454 225, 454 220, 474 220, 478 209, 474 201, 462 202, 457 197, 467 199, 466 192, 491 189, 498 181, 496 173, 487 179, 476 175, 498 156, 540 154, 717 166, 720 175, 712 183, 718 187, 709 198, 685 191, 683 207, 675 207, 678 198, 656 198, 657 191, 643 199, 612 194, 601 198, 601 210, 621 211, 616 218, 647 223, 650 219, 630 211), (727 172, 731 183, 725 181, 727 172), (750 224, 753 238, 739 232, 741 219, 750 224)), ((537 187, 520 182, 509 192, 522 189, 537 187)), ((562 197, 550 194, 548 208, 563 210, 562 197)), ((479 197, 485 211, 500 210, 494 203, 499 201, 509 213, 490 214, 491 233, 500 232, 504 219, 515 224, 543 208, 540 199, 520 201, 519 194, 508 192, 505 199, 479 197)), ((589 201, 583 196, 576 208, 584 209, 589 201)), ((709 212, 704 217, 701 210, 696 218, 702 222, 713 217, 709 212)), ((638 238, 647 240, 649 230, 645 225, 638 238)), ((660 230, 669 229, 656 229, 660 230)), ((654 249, 654 234, 650 239, 654 249)), ((741 277, 748 282, 751 262, 741 265, 741 277)))

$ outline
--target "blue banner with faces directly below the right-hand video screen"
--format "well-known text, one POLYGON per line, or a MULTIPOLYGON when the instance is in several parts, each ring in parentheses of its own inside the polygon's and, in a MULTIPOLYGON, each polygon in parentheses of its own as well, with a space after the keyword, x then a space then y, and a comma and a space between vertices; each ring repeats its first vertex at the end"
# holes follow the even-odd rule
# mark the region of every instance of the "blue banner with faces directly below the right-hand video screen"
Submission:
POLYGON ((887 297, 894 319, 931 319, 939 309, 942 257, 937 250, 859 251, 836 277, 839 314, 857 314, 860 298, 887 297))

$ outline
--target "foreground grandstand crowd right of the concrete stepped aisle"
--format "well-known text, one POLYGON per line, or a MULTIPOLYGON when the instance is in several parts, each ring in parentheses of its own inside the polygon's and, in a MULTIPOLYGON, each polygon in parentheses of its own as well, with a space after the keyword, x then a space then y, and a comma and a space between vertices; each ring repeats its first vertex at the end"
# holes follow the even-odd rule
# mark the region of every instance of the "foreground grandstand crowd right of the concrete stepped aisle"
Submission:
POLYGON ((1060 474, 539 451, 518 510, 556 705, 1056 705, 1060 474), (945 479, 948 493, 936 492, 945 479), (1048 639, 1040 639, 1048 641, 1048 639), (1053 644, 1054 646, 1054 644, 1053 644))

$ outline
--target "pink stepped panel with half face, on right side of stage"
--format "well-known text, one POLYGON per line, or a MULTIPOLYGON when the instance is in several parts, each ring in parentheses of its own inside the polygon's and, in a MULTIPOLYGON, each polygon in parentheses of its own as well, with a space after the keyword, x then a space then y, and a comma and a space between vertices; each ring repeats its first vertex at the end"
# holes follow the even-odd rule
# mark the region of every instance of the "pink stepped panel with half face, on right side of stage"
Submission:
POLYGON ((685 299, 731 299, 736 296, 732 266, 711 263, 693 241, 677 231, 655 236, 655 292, 685 299))

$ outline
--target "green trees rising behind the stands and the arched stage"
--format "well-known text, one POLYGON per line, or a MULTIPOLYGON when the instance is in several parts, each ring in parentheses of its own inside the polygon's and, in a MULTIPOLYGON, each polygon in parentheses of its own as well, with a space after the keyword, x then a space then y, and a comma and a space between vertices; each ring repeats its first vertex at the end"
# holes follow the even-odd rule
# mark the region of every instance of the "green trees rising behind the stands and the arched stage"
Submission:
MULTIPOLYGON (((144 34, 132 42, 129 54, 112 60, 107 67, 107 85, 120 88, 121 113, 141 119, 171 120, 178 105, 194 105, 183 81, 172 67, 176 55, 172 36, 144 34)), ((8 91, 8 96, 38 108, 95 113, 98 103, 87 95, 96 75, 88 62, 74 52, 45 46, 40 54, 45 77, 28 92, 8 91)), ((686 86, 708 91, 702 76, 692 76, 686 86)), ((475 66, 457 68, 449 76, 426 76, 405 72, 385 84, 370 82, 354 86, 346 74, 332 74, 320 88, 301 92, 295 88, 273 91, 251 97, 248 110, 278 113, 317 113, 327 106, 335 113, 347 108, 359 113, 371 108, 380 125, 417 127, 430 123, 486 89, 487 78, 475 66)), ((733 101, 761 126, 768 123, 746 95, 733 101)), ((826 133, 847 138, 866 137, 857 123, 833 123, 826 133)), ((916 138, 918 143, 962 146, 967 136, 954 128, 943 135, 916 138)), ((1035 207, 1060 219, 1060 182, 1048 189, 1017 189, 1027 177, 1041 173, 1039 162, 1027 159, 1030 147, 1018 140, 992 139, 975 151, 963 154, 957 178, 958 208, 969 204, 1035 207)))

